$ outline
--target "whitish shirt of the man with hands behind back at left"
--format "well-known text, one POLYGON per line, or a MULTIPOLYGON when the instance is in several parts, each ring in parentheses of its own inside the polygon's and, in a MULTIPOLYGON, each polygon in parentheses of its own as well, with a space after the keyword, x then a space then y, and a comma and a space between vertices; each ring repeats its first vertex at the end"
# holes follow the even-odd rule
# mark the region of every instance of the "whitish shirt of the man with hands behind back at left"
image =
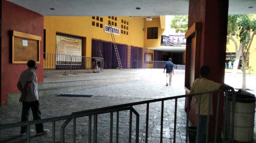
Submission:
POLYGON ((38 83, 36 70, 28 68, 20 74, 19 82, 22 88, 26 85, 27 81, 31 81, 31 86, 28 88, 27 95, 25 97, 26 102, 33 102, 38 100, 38 83))

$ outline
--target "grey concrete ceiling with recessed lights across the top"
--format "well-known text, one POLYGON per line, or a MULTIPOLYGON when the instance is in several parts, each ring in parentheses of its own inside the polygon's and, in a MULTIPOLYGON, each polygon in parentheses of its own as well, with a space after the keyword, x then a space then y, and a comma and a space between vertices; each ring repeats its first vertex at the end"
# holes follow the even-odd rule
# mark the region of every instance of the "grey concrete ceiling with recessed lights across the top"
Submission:
MULTIPOLYGON (((8 0, 42 15, 187 15, 189 0, 8 0), (140 10, 135 9, 140 7, 140 10), (55 8, 55 10, 50 10, 55 8)), ((256 14, 256 0, 229 0, 229 14, 256 14), (253 8, 248 8, 253 6, 253 8)))

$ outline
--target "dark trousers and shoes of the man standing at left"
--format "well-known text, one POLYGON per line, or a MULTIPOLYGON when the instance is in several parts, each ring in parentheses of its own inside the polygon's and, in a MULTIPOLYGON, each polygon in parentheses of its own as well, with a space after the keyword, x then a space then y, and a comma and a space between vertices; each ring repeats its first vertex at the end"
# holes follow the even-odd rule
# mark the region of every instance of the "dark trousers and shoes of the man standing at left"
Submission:
MULTIPOLYGON (((41 112, 39 110, 39 101, 33 101, 33 102, 22 102, 22 114, 21 114, 21 122, 28 121, 29 112, 30 109, 33 113, 33 120, 39 120, 41 119, 41 112)), ((43 124, 36 124, 36 132, 40 133, 44 129, 43 124)), ((27 126, 22 126, 20 133, 25 133, 27 130, 27 126)))

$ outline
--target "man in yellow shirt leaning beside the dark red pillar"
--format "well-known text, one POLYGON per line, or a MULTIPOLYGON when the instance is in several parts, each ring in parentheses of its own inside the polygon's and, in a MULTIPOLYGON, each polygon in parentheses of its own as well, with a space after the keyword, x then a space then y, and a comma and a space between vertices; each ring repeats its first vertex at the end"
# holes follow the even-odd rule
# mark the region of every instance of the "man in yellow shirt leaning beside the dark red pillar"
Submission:
MULTIPOLYGON (((216 83, 212 80, 207 79, 210 74, 210 67, 209 66, 202 66, 200 69, 201 78, 197 78, 192 85, 190 94, 192 93, 201 93, 201 92, 209 92, 218 89, 228 90, 230 89, 229 86, 224 84, 216 83)), ((196 113, 198 114, 198 95, 193 96, 191 100, 194 100, 196 113)), ((204 137, 206 135, 206 125, 207 125, 207 115, 208 110, 210 110, 210 115, 213 115, 212 111, 212 95, 211 94, 203 94, 201 95, 200 100, 200 113, 199 113, 199 128, 197 129, 199 137, 196 139, 196 143, 205 143, 204 137), (208 109, 208 102, 209 102, 209 95, 210 95, 210 109, 208 109)))

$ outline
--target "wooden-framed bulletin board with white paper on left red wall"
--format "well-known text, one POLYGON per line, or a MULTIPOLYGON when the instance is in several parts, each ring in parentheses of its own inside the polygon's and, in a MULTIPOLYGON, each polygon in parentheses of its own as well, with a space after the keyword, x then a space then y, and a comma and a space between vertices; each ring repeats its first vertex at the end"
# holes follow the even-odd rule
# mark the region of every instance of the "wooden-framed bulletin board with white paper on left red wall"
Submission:
POLYGON ((11 36, 13 64, 25 64, 30 59, 40 63, 40 36, 18 31, 11 31, 11 36))

